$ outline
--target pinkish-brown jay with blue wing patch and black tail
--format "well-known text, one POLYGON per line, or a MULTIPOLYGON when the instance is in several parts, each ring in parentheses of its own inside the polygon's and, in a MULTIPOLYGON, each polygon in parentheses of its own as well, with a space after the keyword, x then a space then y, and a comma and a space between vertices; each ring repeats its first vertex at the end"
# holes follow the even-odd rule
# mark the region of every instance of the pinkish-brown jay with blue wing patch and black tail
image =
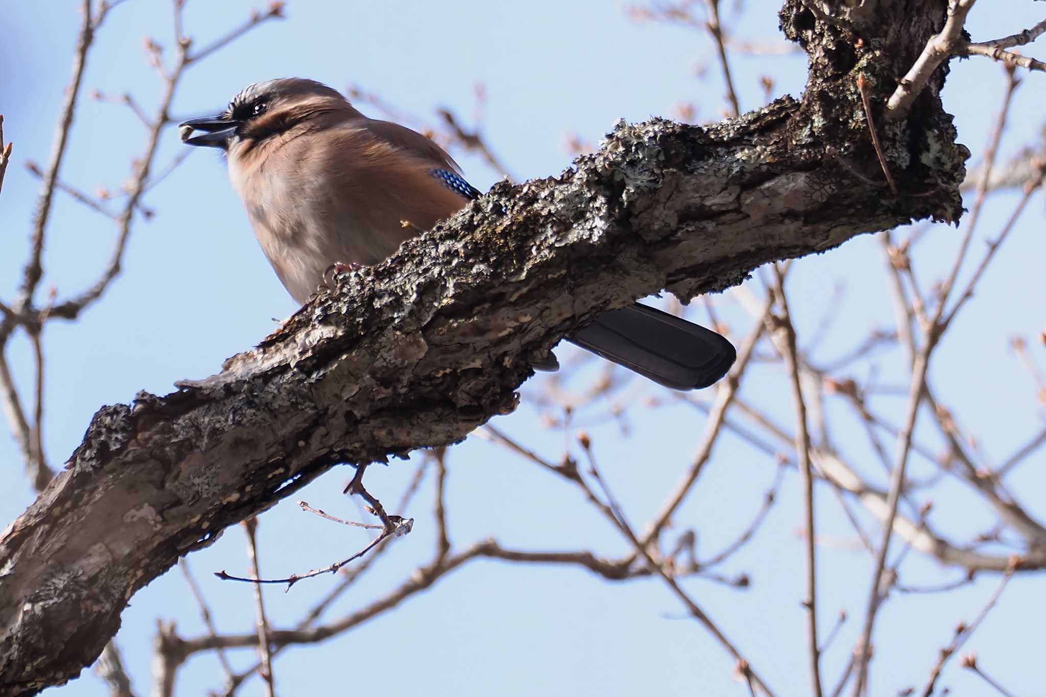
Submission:
MULTIPOLYGON (((251 85, 179 132, 186 144, 224 152, 263 252, 302 304, 332 268, 380 263, 482 195, 432 140, 369 118, 311 79, 251 85)), ((641 303, 607 310, 567 339, 675 390, 713 385, 736 357, 718 332, 641 303)), ((538 364, 553 368, 554 356, 538 364)))

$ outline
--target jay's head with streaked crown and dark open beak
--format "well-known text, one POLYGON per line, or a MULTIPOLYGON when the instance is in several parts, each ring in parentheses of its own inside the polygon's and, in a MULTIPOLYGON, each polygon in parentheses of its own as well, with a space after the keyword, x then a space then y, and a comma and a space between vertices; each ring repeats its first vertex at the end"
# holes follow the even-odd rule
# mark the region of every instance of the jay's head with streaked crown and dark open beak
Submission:
POLYGON ((233 155, 321 114, 339 111, 355 110, 337 90, 311 79, 285 77, 251 85, 221 114, 183 121, 178 129, 189 145, 219 147, 233 155))

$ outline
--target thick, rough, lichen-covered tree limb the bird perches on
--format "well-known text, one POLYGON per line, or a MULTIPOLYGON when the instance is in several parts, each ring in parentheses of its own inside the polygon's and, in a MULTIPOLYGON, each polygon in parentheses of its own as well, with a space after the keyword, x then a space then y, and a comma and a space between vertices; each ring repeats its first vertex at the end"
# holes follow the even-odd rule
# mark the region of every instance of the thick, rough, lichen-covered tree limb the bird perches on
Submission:
POLYGON ((513 411, 529 359, 604 309, 957 219, 969 152, 937 98, 946 69, 907 120, 879 119, 896 196, 856 87, 863 73, 881 114, 946 5, 787 0, 782 30, 810 55, 801 101, 704 129, 621 123, 560 177, 498 184, 340 277, 221 373, 104 406, 0 537, 0 693, 76 676, 135 591, 336 464, 453 443, 513 411))

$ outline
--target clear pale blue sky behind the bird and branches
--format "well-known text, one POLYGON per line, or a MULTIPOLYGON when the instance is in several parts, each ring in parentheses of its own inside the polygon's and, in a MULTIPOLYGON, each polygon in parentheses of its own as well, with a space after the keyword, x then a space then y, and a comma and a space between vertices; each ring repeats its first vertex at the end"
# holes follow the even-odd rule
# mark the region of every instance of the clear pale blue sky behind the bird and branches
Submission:
MULTIPOLYGON (((748 0, 743 18, 731 11, 733 5, 724 3, 723 20, 738 38, 782 40, 776 2, 748 0)), ((241 23, 251 6, 242 0, 188 0, 185 31, 198 45, 207 44, 241 23)), ((0 194, 0 298, 5 300, 14 296, 21 279, 38 188, 22 164, 27 159, 42 164, 47 160, 69 76, 77 7, 67 0, 4 5, 0 113, 5 116, 4 133, 15 142, 15 159, 0 194)), ((983 2, 971 15, 968 28, 975 40, 1008 34, 1041 20, 1042 10, 1042 4, 1024 0, 983 2), (1002 6, 1005 11, 999 11, 1002 6)), ((167 46, 170 53, 169 2, 130 0, 112 11, 89 59, 86 91, 130 91, 151 111, 160 83, 144 61, 145 36, 167 46)), ((758 84, 763 75, 775 80, 774 96, 798 97, 804 67, 801 54, 734 56, 742 109, 764 103, 758 84)), ((956 115, 960 140, 971 146, 975 162, 1000 103, 1000 72, 987 60, 953 63, 946 88, 946 106, 956 115)), ((285 21, 266 23, 190 68, 173 115, 212 113, 251 83, 295 75, 343 90, 358 85, 430 122, 437 106, 471 118, 474 86, 482 83, 487 93, 485 136, 519 180, 553 176, 566 168, 572 157, 564 145, 568 135, 595 143, 618 118, 674 116, 680 102, 692 102, 698 108, 695 120, 705 122, 721 118, 725 107, 714 53, 703 32, 636 24, 616 2, 293 0, 285 21), (702 67, 707 70, 703 76, 702 67)), ((1033 141, 1042 126, 1046 77, 1032 74, 1025 79, 1014 102, 1003 159, 1033 141)), ((130 160, 143 144, 144 131, 128 109, 85 100, 76 113, 62 179, 88 191, 97 185, 115 191, 129 177, 130 160)), ((177 130, 167 129, 157 164, 162 167, 182 147, 177 130)), ((478 158, 460 153, 455 157, 480 189, 497 181, 497 172, 478 158)), ((1000 194, 990 203, 972 248, 975 255, 983 248, 980 240, 998 231, 1016 196, 1000 194)), ((75 324, 47 326, 45 450, 52 466, 60 466, 79 443, 99 405, 127 402, 139 389, 164 394, 177 379, 214 373, 225 357, 267 334, 274 326, 272 318, 295 309, 257 248, 214 152, 192 152, 183 166, 149 192, 145 204, 156 215, 135 223, 123 272, 105 299, 75 324)), ((1037 408, 1033 387, 1008 349, 1011 335, 1033 336, 1044 326, 1042 233, 1039 195, 981 292, 950 330, 955 335, 941 349, 932 375, 942 400, 995 462, 1042 427, 1043 411, 1037 408)), ((958 238, 954 228, 934 228, 916 256, 919 268, 943 275, 958 238)), ((56 194, 42 287, 56 286, 60 297, 86 287, 104 268, 113 241, 114 229, 107 218, 56 194)), ((837 321, 815 357, 841 355, 873 326, 892 327, 882 263, 876 241, 863 237, 795 268, 789 289, 800 338, 809 336, 823 313, 838 306, 837 321), (834 293, 837 286, 842 287, 840 295, 834 293)), ((718 298, 717 304, 736 339, 748 326, 744 312, 729 294, 718 298)), ((703 318, 703 312, 697 317, 703 318)), ((1042 358, 1042 347, 1031 350, 1042 358)), ((562 358, 571 351, 563 349, 560 354, 562 358)), ((32 363, 24 338, 14 342, 9 355, 20 388, 29 394, 32 363)), ((895 352, 887 352, 854 372, 864 377, 878 367, 881 381, 901 385, 905 375, 900 365, 895 352)), ((496 423, 555 460, 562 456, 563 434, 541 427, 537 405, 541 379, 524 387, 523 405, 516 414, 496 423)), ((755 366, 747 380, 747 398, 791 426, 782 368, 755 366)), ((630 401, 647 394, 667 395, 638 381, 626 393, 630 401)), ((882 400, 877 402, 880 411, 899 423, 904 400, 882 400)), ((585 415, 578 418, 584 421, 585 415)), ((634 410, 632 438, 620 438, 613 425, 589 428, 604 473, 634 522, 658 510, 686 468, 703 424, 704 416, 696 410, 669 403, 634 410)), ((855 448, 859 461, 882 483, 877 461, 865 451, 859 424, 839 418, 833 425, 837 440, 860 443, 855 448)), ((14 440, 5 429, 0 434, 0 463, 5 467, 0 518, 8 521, 35 496, 14 440)), ((927 441, 938 446, 930 437, 927 441)), ((514 549, 586 549, 611 556, 627 552, 616 531, 584 504, 575 489, 535 466, 472 438, 448 457, 449 522, 457 545, 493 535, 514 549)), ((931 471, 925 464, 914 467, 915 475, 931 471)), ((701 556, 721 549, 747 526, 774 469, 772 458, 736 438, 723 439, 677 516, 680 528, 699 532, 701 556)), ((368 472, 369 488, 386 503, 394 501, 412 471, 412 465, 402 462, 374 468, 368 472)), ((340 494, 349 472, 336 470, 292 498, 356 517, 356 506, 340 494)), ((1033 515, 1046 517, 1042 454, 1007 485, 1033 515)), ((721 570, 728 576, 748 573, 750 588, 725 588, 700 579, 684 582, 780 695, 804 694, 808 686, 797 491, 798 480, 790 472, 780 501, 756 539, 721 570)), ((938 529, 961 540, 991 527, 993 516, 963 486, 946 486, 942 491, 945 495, 934 499, 932 519, 938 529)), ((821 529, 852 536, 828 490, 819 488, 818 495, 821 529)), ((430 502, 431 478, 412 509, 402 511, 417 518, 414 532, 397 541, 380 565, 336 604, 329 618, 379 597, 428 558, 434 534, 430 502)), ((293 499, 262 517, 259 534, 263 573, 279 576, 329 563, 365 540, 363 533, 300 512, 293 499)), ((871 563, 867 554, 848 545, 819 549, 825 632, 838 610, 863 612, 871 563)), ((219 629, 250 631, 250 588, 210 575, 221 568, 246 571, 240 529, 229 530, 189 562, 219 629)), ((912 585, 940 578, 935 563, 925 559, 907 562, 905 572, 912 585)), ((960 576, 952 571, 949 578, 960 576)), ((296 622, 335 582, 323 577, 287 595, 267 588, 274 626, 296 622)), ((956 622, 972 619, 996 583, 996 577, 985 576, 947 596, 892 597, 879 619, 873 694, 922 686, 956 622)), ((1041 574, 1016 579, 967 647, 990 660, 992 671, 1016 694, 1044 694, 1037 666, 1046 650, 1044 590, 1041 574)), ((573 567, 477 561, 348 634, 282 653, 275 673, 281 695, 306 691, 506 697, 539 692, 747 694, 731 678, 732 660, 701 626, 678 619, 681 614, 676 599, 654 580, 609 583, 573 567), (389 646, 396 648, 389 651, 389 646)), ((185 636, 204 633, 197 606, 177 571, 135 596, 122 618, 117 641, 139 694, 150 689, 151 637, 157 618, 176 620, 185 636)), ((829 686, 845 664, 859 625, 860 619, 851 618, 824 657, 829 686)), ((240 651, 233 658, 245 668, 254 653, 240 651)), ((198 658, 180 673, 177 694, 205 694, 221 680, 212 656, 198 658)), ((953 664, 943 682, 953 694, 984 694, 983 683, 973 680, 953 664)), ((107 692, 86 671, 81 679, 48 694, 94 697, 107 692)), ((242 694, 262 694, 260 683, 252 680, 242 694)))

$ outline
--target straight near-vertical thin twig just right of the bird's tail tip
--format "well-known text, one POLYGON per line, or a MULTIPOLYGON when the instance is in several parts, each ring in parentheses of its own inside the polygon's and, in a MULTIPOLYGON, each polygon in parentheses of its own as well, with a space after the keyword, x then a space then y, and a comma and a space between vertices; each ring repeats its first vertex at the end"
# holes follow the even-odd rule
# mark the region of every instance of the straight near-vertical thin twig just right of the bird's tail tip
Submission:
POLYGON ((795 327, 792 324, 792 316, 789 311, 788 298, 784 295, 784 278, 780 268, 773 264, 774 270, 774 293, 777 296, 777 305, 780 308, 780 328, 784 334, 781 342, 784 347, 784 364, 788 366, 789 377, 791 378, 792 401, 795 409, 795 450, 798 458, 799 487, 802 490, 803 507, 803 536, 805 541, 806 561, 806 597, 802 600, 803 607, 806 608, 806 640, 808 658, 810 659, 811 682, 814 688, 815 697, 821 697, 821 653, 817 641, 817 563, 815 557, 815 527, 814 527, 814 478, 811 473, 810 464, 810 432, 806 429, 806 404, 802 397, 802 387, 799 384, 799 357, 796 349, 795 327))

